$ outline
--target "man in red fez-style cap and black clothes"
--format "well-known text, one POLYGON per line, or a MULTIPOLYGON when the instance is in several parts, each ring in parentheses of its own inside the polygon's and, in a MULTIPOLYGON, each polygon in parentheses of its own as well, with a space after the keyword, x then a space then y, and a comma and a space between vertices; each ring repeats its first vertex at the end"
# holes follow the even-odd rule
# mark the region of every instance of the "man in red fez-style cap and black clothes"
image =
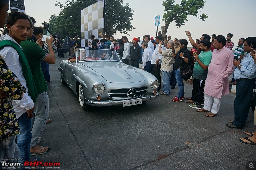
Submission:
POLYGON ((133 38, 132 40, 133 48, 131 48, 131 66, 139 68, 139 63, 142 58, 142 49, 138 43, 138 38, 133 38))

